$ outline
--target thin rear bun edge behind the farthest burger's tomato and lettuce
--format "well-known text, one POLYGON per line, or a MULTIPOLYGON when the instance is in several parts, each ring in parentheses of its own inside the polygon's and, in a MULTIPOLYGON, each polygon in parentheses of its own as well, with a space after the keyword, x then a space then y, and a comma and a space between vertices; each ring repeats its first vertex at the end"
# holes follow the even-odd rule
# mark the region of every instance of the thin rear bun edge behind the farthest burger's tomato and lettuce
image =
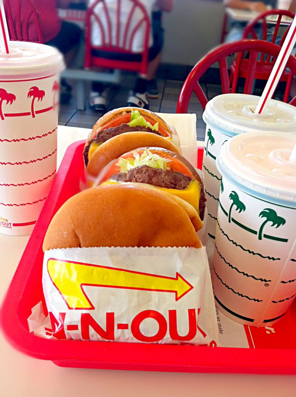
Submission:
POLYGON ((128 108, 118 108, 118 109, 111 110, 111 112, 108 112, 108 113, 104 114, 101 118, 99 118, 92 129, 91 138, 94 137, 94 135, 96 133, 101 131, 102 127, 105 124, 109 123, 109 121, 111 121, 115 117, 120 116, 122 114, 131 113, 132 109, 137 110, 139 112, 139 114, 141 114, 141 116, 149 117, 150 119, 154 120, 156 123, 159 123, 159 125, 161 125, 162 128, 164 128, 166 131, 168 131, 171 135, 173 134, 173 131, 170 129, 168 124, 160 116, 157 116, 157 114, 150 112, 149 110, 145 110, 145 109, 141 109, 141 108, 128 107, 128 108))

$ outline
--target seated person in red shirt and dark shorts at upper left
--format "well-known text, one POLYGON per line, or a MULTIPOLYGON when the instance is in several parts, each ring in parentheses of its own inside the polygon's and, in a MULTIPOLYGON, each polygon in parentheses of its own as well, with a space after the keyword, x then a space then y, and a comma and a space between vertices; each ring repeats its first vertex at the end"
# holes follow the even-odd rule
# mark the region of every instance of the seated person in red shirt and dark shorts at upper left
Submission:
MULTIPOLYGON (((6 0, 9 2, 12 19, 16 21, 18 16, 15 13, 19 10, 20 0, 6 0)), ((81 29, 78 25, 62 21, 58 16, 58 8, 67 8, 70 0, 31 0, 40 16, 41 34, 45 44, 54 46, 64 55, 65 63, 68 66, 73 62, 80 42, 81 29)), ((7 3, 6 3, 7 4, 7 3)), ((23 22, 30 10, 30 2, 21 3, 21 22, 23 22)), ((4 2, 5 7, 5 2, 4 2)), ((38 41, 38 33, 35 19, 31 17, 28 25, 28 41, 38 41)), ((71 86, 65 80, 61 80, 61 102, 67 103, 71 99, 71 86)))

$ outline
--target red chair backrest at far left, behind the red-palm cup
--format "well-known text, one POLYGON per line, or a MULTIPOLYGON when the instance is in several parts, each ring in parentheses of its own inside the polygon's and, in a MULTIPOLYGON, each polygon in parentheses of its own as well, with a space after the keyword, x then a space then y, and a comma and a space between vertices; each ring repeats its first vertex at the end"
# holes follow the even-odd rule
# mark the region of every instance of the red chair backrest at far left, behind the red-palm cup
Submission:
POLYGON ((29 40, 29 27, 36 29, 36 41, 44 43, 40 15, 32 0, 18 0, 16 9, 11 10, 9 0, 4 0, 4 10, 7 19, 10 40, 31 41, 29 40))

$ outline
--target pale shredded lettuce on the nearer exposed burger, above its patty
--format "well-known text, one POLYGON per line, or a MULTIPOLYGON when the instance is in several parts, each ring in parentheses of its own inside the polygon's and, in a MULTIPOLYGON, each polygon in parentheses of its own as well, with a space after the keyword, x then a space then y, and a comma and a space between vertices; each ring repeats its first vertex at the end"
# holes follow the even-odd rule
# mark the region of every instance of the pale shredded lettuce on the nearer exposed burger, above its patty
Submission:
POLYGON ((120 167, 120 172, 127 173, 132 168, 139 166, 148 166, 151 168, 161 168, 162 170, 169 170, 168 163, 170 160, 151 153, 148 149, 144 150, 141 156, 136 151, 133 152, 134 158, 120 158, 116 166, 120 167))

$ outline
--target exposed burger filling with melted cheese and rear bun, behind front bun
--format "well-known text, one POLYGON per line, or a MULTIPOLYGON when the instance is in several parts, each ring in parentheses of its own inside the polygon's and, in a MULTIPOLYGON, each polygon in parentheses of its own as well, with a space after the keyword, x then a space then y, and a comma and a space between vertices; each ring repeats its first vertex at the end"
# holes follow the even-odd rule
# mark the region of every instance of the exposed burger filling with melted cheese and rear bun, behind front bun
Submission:
POLYGON ((100 183, 152 185, 191 204, 201 220, 205 195, 199 174, 180 154, 157 147, 138 148, 123 154, 105 168, 100 183))

